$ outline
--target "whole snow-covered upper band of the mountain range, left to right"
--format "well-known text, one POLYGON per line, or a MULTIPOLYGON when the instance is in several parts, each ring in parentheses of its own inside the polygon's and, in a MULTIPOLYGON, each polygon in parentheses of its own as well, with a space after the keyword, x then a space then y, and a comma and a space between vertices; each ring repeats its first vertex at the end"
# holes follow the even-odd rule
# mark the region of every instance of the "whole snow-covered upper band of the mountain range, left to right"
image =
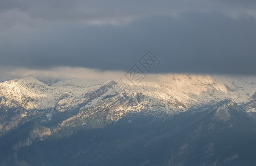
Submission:
POLYGON ((154 110, 154 105, 168 112, 224 98, 243 103, 256 91, 256 85, 251 84, 256 82, 253 79, 245 84, 241 78, 193 74, 149 75, 136 86, 124 81, 129 85, 129 89, 122 91, 124 94, 117 90, 118 81, 63 79, 47 82, 52 83, 47 85, 33 77, 2 82, 0 97, 6 100, 1 104, 12 107, 13 103, 18 103, 26 110, 54 108, 62 112, 78 105, 86 108, 101 105, 106 98, 125 94, 138 100, 142 109, 154 110))

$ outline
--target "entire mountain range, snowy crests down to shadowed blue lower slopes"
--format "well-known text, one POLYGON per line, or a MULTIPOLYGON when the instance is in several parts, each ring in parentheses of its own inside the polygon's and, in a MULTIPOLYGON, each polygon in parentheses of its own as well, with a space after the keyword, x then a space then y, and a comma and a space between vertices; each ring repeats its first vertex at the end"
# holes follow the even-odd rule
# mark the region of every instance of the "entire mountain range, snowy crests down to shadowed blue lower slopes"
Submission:
POLYGON ((255 165, 256 77, 0 82, 0 165, 255 165))

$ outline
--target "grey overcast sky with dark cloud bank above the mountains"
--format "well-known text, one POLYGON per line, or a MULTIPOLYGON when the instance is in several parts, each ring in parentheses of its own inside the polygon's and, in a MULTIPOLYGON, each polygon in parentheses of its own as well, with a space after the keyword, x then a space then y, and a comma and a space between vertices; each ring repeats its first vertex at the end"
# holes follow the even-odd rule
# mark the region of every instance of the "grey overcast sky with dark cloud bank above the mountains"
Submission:
MULTIPOLYGON (((256 1, 0 0, 0 69, 256 74, 256 1)), ((1 76, 1 75, 0 75, 1 76)))

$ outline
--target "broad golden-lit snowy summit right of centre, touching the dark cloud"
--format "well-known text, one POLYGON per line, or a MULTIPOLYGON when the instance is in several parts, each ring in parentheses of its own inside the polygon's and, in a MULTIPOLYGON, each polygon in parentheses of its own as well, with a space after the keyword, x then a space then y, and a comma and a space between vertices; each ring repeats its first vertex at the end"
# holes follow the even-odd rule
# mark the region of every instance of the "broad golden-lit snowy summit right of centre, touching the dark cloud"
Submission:
POLYGON ((223 99, 228 95, 227 87, 210 75, 154 75, 148 80, 133 87, 135 92, 166 102, 183 103, 181 109, 198 102, 223 99))

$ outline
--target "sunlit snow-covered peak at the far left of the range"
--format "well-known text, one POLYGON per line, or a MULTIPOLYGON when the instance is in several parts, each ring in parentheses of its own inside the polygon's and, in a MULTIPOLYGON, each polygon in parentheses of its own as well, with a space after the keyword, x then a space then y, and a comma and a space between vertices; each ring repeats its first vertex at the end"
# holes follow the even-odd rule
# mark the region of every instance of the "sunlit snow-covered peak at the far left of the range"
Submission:
POLYGON ((0 83, 0 97, 5 98, 1 104, 13 107, 14 103, 17 103, 26 110, 49 109, 54 108, 59 98, 63 98, 63 96, 73 96, 80 100, 82 95, 90 89, 100 86, 99 84, 88 85, 88 82, 80 81, 79 84, 74 82, 77 80, 69 80, 64 84, 57 82, 56 85, 48 86, 33 77, 5 81, 0 83))

